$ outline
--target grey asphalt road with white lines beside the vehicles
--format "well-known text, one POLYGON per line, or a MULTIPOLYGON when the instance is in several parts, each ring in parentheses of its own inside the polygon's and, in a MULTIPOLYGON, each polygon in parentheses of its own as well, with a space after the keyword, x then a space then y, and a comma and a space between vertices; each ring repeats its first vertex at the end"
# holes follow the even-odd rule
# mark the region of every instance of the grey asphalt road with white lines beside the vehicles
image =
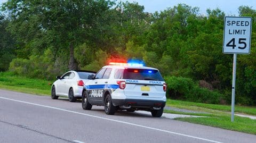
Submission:
POLYGON ((256 136, 0 89, 0 142, 256 142, 256 136))

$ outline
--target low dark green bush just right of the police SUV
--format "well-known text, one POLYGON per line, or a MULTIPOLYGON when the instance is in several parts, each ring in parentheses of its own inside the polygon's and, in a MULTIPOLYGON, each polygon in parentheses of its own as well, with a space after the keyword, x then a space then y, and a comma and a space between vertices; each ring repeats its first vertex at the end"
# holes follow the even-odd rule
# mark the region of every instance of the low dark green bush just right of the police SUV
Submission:
POLYGON ((223 97, 217 91, 199 87, 190 78, 172 76, 164 79, 167 83, 167 96, 173 99, 218 104, 223 97))

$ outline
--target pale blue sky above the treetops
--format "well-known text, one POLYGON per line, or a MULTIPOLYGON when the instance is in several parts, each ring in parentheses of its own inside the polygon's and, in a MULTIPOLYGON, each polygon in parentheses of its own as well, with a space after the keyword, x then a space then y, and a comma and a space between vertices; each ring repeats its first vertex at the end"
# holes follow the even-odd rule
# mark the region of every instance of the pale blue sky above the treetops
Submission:
MULTIPOLYGON (((7 0, 0 0, 0 4, 7 0)), ((154 13, 155 11, 164 11, 167 7, 173 7, 180 3, 192 7, 199 7, 201 14, 206 14, 206 9, 216 9, 224 11, 226 15, 238 16, 238 7, 241 5, 252 6, 256 9, 256 0, 118 0, 128 2, 138 2, 145 7, 145 12, 154 13)))

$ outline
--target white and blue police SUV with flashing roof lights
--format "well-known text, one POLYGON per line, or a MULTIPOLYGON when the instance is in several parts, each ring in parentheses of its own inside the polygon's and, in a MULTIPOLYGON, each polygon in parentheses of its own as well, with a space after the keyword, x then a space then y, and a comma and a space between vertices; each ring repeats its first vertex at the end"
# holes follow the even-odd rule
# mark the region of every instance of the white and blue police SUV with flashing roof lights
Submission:
POLYGON ((160 72, 146 66, 110 63, 89 75, 82 92, 82 107, 105 106, 106 114, 116 110, 143 110, 161 117, 166 102, 166 83, 160 72))

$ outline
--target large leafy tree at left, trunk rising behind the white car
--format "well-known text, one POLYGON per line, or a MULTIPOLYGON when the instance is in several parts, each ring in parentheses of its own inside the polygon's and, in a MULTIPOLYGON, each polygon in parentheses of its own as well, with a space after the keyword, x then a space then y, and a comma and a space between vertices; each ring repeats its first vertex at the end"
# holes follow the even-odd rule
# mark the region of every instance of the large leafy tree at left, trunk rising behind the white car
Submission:
POLYGON ((20 49, 31 51, 27 57, 51 46, 54 51, 69 49, 69 69, 77 69, 74 47, 85 39, 99 40, 101 18, 113 4, 109 0, 11 0, 3 10, 11 15, 9 30, 18 38, 20 49))

